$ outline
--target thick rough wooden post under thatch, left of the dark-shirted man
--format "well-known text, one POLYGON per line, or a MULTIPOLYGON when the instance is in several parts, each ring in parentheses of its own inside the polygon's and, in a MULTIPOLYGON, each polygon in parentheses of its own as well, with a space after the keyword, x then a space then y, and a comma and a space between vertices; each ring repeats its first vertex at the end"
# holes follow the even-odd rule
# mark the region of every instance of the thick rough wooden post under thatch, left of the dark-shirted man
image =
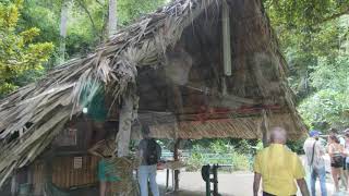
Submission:
POLYGON ((128 95, 123 97, 123 105, 119 117, 119 132, 117 136, 118 157, 129 156, 132 121, 133 98, 131 95, 128 95))

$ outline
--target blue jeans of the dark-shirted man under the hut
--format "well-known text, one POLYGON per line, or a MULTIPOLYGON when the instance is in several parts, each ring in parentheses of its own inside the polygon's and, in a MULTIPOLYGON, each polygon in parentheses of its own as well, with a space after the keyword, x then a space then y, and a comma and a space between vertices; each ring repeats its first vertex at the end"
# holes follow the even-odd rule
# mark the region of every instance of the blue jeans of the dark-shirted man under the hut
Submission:
POLYGON ((139 183, 141 188, 141 196, 148 196, 148 181, 153 196, 159 196, 159 187, 156 183, 156 164, 140 166, 139 168, 139 183))

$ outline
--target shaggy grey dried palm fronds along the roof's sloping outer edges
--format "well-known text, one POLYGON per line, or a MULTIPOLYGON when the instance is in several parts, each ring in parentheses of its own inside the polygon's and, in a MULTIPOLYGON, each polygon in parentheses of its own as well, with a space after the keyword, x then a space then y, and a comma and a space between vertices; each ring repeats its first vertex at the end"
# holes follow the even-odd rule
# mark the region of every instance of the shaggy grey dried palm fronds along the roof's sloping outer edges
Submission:
MULTIPOLYGON (((100 88, 112 95, 113 102, 133 91, 137 69, 157 66, 166 61, 167 49, 178 42, 184 28, 193 24, 208 7, 218 9, 220 4, 221 0, 174 0, 120 30, 95 52, 57 66, 38 83, 22 87, 2 99, 0 186, 13 170, 26 166, 40 155, 71 117, 81 113, 100 88)), ((261 25, 266 25, 265 29, 270 30, 267 17, 263 15, 263 19, 265 22, 261 25)), ((279 57, 280 87, 286 94, 292 119, 302 130, 304 125, 297 114, 292 94, 285 79, 286 63, 273 33, 267 35, 272 40, 269 48, 279 57)), ((260 84, 260 90, 267 96, 268 90, 263 89, 264 85, 268 84, 260 84)), ((231 123, 228 125, 231 126, 231 123)))

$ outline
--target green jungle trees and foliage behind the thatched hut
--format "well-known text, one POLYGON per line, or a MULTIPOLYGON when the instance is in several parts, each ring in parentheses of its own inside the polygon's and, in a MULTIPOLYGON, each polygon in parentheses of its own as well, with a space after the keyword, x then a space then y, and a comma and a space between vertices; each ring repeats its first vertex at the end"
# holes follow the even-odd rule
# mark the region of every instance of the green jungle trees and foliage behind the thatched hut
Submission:
MULTIPOLYGON (((117 28, 170 0, 115 0, 117 28)), ((0 98, 39 79, 56 65, 82 57, 107 39, 110 0, 0 0, 0 98)), ((298 110, 310 128, 326 133, 349 125, 349 0, 264 0, 288 62, 298 110)), ((170 143, 164 142, 164 146, 170 143)), ((301 152, 302 142, 289 147, 301 152)), ((201 151, 232 155, 248 169, 258 140, 202 139, 190 143, 191 161, 201 151)))

